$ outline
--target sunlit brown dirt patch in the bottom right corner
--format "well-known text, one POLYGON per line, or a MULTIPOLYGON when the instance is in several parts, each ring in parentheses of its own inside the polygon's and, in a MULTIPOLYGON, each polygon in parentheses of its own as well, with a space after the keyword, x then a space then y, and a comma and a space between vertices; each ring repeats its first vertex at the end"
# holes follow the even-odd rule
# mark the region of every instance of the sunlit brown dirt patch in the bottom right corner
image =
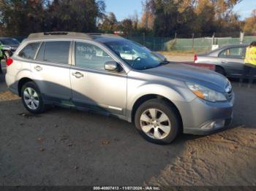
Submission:
POLYGON ((149 185, 256 185, 256 129, 233 128, 190 140, 149 185))

